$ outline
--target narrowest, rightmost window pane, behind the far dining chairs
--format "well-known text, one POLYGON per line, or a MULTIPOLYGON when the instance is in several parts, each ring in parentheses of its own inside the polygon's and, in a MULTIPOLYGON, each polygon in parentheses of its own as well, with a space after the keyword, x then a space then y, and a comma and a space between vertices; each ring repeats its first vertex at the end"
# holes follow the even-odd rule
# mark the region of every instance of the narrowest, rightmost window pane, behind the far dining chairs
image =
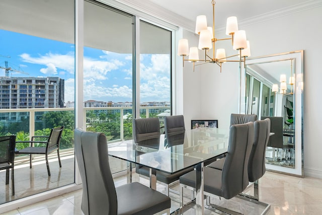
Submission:
POLYGON ((171 114, 171 31, 140 21, 140 117, 171 114))

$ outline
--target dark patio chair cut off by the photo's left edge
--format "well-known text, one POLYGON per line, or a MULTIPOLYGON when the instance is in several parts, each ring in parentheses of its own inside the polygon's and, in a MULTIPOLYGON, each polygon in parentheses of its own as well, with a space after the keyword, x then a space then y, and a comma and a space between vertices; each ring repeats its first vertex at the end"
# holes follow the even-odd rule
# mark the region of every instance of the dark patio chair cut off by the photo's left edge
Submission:
POLYGON ((9 170, 11 169, 12 195, 15 195, 15 146, 15 135, 0 136, 0 170, 6 170, 6 184, 9 184, 9 170))

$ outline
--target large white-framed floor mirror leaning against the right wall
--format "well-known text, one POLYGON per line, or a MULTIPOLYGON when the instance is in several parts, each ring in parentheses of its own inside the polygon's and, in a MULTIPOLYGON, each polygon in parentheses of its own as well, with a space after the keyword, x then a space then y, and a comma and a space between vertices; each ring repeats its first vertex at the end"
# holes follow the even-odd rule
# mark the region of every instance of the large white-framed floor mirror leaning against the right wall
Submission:
POLYGON ((303 175, 303 50, 251 58, 240 80, 240 113, 271 119, 266 168, 303 175))

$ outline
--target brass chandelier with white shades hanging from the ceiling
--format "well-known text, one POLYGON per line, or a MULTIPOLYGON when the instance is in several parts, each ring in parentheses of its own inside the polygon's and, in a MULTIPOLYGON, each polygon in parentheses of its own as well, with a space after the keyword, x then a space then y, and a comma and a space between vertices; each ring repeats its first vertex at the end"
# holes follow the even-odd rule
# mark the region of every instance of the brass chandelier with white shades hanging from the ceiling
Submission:
POLYGON ((183 57, 183 63, 185 60, 193 63, 193 71, 195 71, 195 66, 204 63, 216 63, 220 66, 225 62, 239 62, 241 68, 241 62, 246 61, 246 57, 251 56, 250 43, 246 39, 246 32, 244 30, 238 30, 237 18, 228 17, 226 23, 226 35, 230 35, 229 38, 217 39, 215 37, 215 1, 211 1, 212 4, 212 27, 207 26, 206 16, 197 16, 196 19, 196 30, 195 32, 199 34, 199 44, 198 47, 190 47, 188 45, 187 39, 180 39, 178 44, 178 55, 183 57), (232 48, 238 51, 238 54, 227 56, 225 49, 219 48, 216 50, 215 55, 215 43, 219 40, 231 40, 232 48), (198 49, 204 50, 204 59, 199 59, 198 49), (212 56, 209 54, 209 50, 212 49, 212 56), (185 59, 185 56, 188 56, 185 59), (239 56, 239 60, 227 60, 227 58, 239 56), (203 61, 203 62, 200 62, 203 61), (196 63, 200 62, 200 63, 196 63))

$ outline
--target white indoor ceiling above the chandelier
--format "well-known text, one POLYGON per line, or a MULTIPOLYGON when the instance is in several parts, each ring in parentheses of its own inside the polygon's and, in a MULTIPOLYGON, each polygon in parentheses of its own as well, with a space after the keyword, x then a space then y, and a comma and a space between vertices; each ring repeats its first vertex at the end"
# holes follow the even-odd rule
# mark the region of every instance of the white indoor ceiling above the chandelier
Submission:
MULTIPOLYGON (((198 15, 206 15, 212 24, 211 0, 145 0, 195 22, 198 15)), ((226 19, 236 16, 238 23, 250 22, 260 17, 290 12, 312 4, 315 0, 217 0, 215 3, 216 28, 224 28, 226 19)))

